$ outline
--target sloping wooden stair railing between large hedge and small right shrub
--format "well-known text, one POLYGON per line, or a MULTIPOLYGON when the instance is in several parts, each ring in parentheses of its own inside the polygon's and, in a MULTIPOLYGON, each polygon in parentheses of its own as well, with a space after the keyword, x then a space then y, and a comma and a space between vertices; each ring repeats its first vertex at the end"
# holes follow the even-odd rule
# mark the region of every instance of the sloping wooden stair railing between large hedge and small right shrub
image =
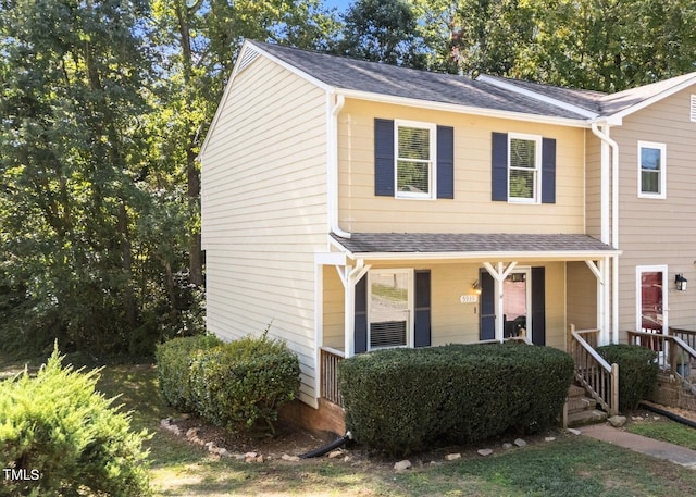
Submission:
POLYGON ((570 326, 570 355, 575 363, 575 380, 606 410, 619 413, 619 365, 609 364, 597 351, 599 330, 570 326))

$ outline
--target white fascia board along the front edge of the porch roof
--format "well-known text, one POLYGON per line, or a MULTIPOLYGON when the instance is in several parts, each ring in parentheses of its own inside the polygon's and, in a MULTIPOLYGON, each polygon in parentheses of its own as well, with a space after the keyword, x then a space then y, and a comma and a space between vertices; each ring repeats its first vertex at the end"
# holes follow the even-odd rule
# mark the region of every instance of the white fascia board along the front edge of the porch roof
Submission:
POLYGON ((470 261, 587 261, 604 259, 606 257, 620 256, 621 250, 567 250, 567 251, 496 251, 496 252, 348 252, 350 259, 363 259, 364 261, 443 261, 443 260, 470 260, 470 261))

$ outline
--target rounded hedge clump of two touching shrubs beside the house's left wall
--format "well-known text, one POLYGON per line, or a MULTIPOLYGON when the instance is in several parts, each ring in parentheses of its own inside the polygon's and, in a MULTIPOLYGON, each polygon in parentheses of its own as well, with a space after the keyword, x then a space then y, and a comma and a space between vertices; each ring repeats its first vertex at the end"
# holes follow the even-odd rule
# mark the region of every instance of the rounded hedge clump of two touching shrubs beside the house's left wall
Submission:
POLYGON ((299 395, 297 356, 265 333, 229 344, 197 338, 175 338, 158 348, 162 392, 170 403, 233 431, 275 432, 277 408, 299 395))

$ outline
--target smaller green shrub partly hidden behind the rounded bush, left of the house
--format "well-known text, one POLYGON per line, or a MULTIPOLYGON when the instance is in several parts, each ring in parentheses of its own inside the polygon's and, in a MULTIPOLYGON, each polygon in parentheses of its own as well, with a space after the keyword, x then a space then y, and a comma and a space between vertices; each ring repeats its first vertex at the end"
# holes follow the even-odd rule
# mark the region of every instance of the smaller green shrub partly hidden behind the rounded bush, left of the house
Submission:
POLYGON ((195 410, 190 389, 190 363, 198 350, 217 347, 214 335, 174 338, 157 347, 157 370, 162 395, 169 403, 184 412, 195 410))

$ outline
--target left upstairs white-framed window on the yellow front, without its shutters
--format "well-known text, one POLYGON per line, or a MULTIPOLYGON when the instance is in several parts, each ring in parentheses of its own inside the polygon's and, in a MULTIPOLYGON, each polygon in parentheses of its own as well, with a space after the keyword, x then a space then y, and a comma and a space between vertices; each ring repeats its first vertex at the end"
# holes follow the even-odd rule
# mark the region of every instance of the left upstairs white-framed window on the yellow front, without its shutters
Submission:
POLYGON ((396 125, 396 197, 434 198, 435 126, 399 122, 396 125))

